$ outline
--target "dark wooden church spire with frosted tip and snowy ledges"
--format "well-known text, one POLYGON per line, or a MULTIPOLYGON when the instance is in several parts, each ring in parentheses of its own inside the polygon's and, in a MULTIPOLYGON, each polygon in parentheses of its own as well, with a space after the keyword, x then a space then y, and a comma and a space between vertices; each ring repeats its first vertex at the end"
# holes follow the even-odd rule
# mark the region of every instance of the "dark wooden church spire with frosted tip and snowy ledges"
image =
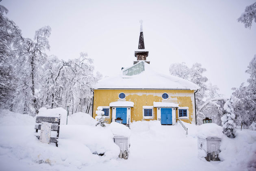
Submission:
POLYGON ((144 38, 143 38, 143 26, 142 26, 143 20, 140 20, 139 22, 141 23, 139 45, 138 45, 138 50, 134 51, 134 56, 137 58, 137 61, 134 61, 133 64, 136 64, 139 61, 145 61, 146 63, 149 64, 150 61, 147 61, 148 51, 145 50, 144 38))

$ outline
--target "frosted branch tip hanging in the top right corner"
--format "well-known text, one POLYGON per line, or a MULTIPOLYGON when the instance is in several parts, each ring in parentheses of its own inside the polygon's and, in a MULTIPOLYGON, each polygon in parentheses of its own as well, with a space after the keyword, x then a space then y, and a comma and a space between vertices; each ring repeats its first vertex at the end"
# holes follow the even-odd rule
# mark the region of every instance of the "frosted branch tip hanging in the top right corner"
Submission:
POLYGON ((256 2, 245 7, 245 12, 237 19, 238 22, 245 24, 245 28, 251 28, 252 22, 256 22, 256 2))

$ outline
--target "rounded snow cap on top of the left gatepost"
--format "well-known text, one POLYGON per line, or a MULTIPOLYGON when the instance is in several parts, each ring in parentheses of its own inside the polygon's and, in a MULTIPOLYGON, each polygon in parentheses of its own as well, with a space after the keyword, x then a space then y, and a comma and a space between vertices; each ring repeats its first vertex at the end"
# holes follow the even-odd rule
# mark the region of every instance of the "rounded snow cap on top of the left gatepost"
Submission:
POLYGON ((111 132, 114 135, 130 137, 130 129, 127 126, 124 126, 123 124, 112 122, 109 125, 109 128, 111 129, 111 132))

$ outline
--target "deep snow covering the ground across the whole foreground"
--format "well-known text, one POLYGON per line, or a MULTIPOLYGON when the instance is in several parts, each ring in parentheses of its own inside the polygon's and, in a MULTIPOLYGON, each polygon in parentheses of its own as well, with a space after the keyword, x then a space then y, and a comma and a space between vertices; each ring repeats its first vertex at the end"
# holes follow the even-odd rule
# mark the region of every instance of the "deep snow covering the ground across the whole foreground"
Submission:
MULTIPOLYGON (((76 113, 61 125, 59 147, 43 144, 35 136, 35 118, 0 110, 1 171, 76 171, 76 170, 256 170, 256 132, 237 130, 237 136, 222 136, 222 161, 207 162, 197 154, 197 135, 211 132, 206 124, 161 126, 158 121, 138 121, 126 127, 95 127, 94 119, 76 113), (119 147, 113 134, 130 134, 128 160, 117 158, 119 147), (93 153, 104 153, 98 156, 93 153)), ((218 128, 219 129, 219 128, 218 128)), ((217 130, 218 131, 218 130, 217 130)))

